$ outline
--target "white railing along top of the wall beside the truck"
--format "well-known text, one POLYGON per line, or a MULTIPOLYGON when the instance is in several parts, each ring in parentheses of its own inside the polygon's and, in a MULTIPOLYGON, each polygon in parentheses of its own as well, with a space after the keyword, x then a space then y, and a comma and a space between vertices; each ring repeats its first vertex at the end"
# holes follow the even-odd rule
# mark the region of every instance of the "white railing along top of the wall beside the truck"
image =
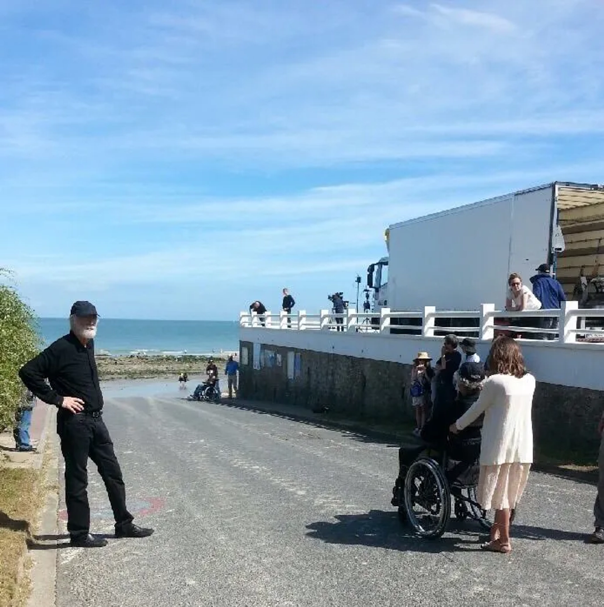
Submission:
POLYGON ((436 310, 427 306, 422 311, 357 312, 348 308, 343 314, 321 310, 309 314, 281 311, 273 314, 241 312, 241 327, 296 331, 336 331, 341 333, 411 334, 441 339, 447 333, 490 341, 502 331, 519 339, 541 339, 544 342, 572 344, 578 341, 604 342, 604 310, 578 308, 577 302, 563 302, 561 310, 526 310, 511 312, 495 310, 493 304, 482 304, 477 311, 436 310), (547 324, 540 319, 550 319, 547 324), (445 320, 443 323, 442 321, 445 320), (468 322, 464 322, 467 320, 468 322), (540 326, 535 326, 540 325, 540 326), (602 328, 594 327, 601 325, 602 328), (600 338, 596 340, 595 338, 600 338))

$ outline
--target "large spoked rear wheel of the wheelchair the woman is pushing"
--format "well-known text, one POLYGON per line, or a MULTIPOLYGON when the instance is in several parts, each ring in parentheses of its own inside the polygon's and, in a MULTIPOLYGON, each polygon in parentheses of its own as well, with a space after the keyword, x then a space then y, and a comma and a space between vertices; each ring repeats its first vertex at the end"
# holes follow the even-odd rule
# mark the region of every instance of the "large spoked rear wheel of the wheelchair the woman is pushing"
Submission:
POLYGON ((422 457, 405 477, 405 510, 415 532, 425 538, 441 537, 451 517, 451 493, 441 467, 422 457))

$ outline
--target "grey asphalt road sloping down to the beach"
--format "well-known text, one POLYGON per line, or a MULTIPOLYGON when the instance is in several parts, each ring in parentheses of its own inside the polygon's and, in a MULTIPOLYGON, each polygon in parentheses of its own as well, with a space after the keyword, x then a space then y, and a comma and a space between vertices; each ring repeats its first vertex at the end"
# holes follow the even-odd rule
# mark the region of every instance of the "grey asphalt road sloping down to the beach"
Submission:
POLYGON ((58 607, 602 605, 589 484, 532 473, 512 554, 485 554, 474 523, 453 519, 437 541, 399 524, 392 444, 132 393, 108 393, 105 420, 136 522, 156 532, 111 537, 91 464, 92 531, 109 545, 58 550, 58 607))

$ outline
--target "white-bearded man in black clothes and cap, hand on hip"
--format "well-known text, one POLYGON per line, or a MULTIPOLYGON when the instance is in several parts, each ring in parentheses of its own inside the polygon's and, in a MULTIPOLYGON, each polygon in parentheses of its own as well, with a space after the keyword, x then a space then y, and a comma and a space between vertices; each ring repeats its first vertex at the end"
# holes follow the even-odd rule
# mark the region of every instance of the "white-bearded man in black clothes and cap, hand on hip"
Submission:
POLYGON ((115 518, 116 537, 147 537, 126 508, 126 490, 109 431, 103 422, 103 393, 94 359, 97 309, 77 301, 71 307, 70 332, 19 370, 21 381, 44 402, 55 405, 57 433, 65 460, 67 531, 72 546, 100 548, 107 540, 90 534, 88 458, 97 465, 115 518), (48 379, 49 384, 44 380, 48 379))

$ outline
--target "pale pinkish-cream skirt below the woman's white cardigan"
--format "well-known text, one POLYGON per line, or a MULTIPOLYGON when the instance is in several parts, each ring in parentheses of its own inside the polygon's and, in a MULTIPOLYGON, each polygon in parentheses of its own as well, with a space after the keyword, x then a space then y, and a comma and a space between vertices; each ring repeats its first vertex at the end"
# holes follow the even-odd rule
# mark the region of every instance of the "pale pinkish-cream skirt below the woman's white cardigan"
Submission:
POLYGON ((485 510, 515 508, 529 480, 530 464, 481 466, 476 491, 485 510))

